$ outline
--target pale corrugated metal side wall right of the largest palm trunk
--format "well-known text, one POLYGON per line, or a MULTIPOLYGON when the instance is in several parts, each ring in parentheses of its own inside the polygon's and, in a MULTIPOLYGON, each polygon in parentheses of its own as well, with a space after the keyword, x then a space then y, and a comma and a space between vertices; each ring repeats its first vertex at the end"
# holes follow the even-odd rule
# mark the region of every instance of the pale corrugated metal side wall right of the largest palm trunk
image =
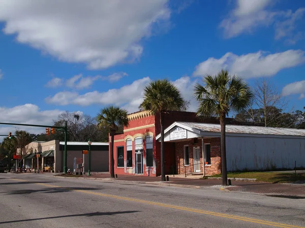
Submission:
POLYGON ((305 139, 227 136, 227 170, 305 167, 305 139))

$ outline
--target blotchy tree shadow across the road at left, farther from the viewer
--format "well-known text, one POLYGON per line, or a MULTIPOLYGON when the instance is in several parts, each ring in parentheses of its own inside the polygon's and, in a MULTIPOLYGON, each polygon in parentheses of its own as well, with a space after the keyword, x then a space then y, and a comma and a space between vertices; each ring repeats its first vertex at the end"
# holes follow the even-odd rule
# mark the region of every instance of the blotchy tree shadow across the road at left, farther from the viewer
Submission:
POLYGON ((102 190, 101 187, 48 187, 43 189, 20 189, 10 192, 2 192, 7 195, 21 195, 21 194, 32 194, 32 193, 66 193, 77 190, 94 191, 102 190))

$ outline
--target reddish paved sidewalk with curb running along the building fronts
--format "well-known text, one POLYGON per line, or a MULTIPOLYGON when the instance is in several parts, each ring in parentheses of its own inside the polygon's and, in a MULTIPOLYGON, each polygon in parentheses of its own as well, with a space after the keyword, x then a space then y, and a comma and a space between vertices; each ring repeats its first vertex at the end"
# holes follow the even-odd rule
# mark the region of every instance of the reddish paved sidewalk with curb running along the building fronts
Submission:
MULTIPOLYGON (((73 178, 73 177, 71 177, 73 178)), ((75 177, 74 177, 75 178, 75 177)), ((200 178, 179 178, 169 176, 169 181, 162 182, 161 177, 150 176, 134 176, 134 175, 118 175, 117 178, 110 178, 110 174, 99 173, 92 174, 92 176, 80 177, 83 179, 98 179, 104 181, 117 182, 137 182, 143 184, 159 184, 161 186, 175 186, 175 187, 218 187, 224 191, 230 192, 251 192, 263 194, 272 197, 286 197, 295 199, 305 199, 305 183, 300 184, 278 184, 278 183, 264 183, 256 181, 236 181, 232 180, 231 186, 222 187, 222 180, 220 179, 200 179, 200 178)))

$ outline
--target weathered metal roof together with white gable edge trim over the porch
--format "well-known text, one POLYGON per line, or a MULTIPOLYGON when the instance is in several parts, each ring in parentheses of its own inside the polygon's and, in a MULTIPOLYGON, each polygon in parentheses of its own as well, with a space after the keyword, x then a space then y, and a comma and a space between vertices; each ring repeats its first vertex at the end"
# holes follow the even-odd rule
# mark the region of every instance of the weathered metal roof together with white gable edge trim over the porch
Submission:
MULTIPOLYGON (((189 131, 196 132, 204 136, 204 133, 220 133, 220 124, 205 124, 196 122, 174 122, 164 130, 164 133, 169 132, 175 126, 185 128, 189 131)), ((226 133, 229 134, 255 134, 255 135, 269 135, 269 136, 305 136, 305 129, 294 128, 271 128, 258 126, 244 126, 244 125, 226 125, 226 133)), ((220 134, 219 134, 220 135, 220 134)), ((161 134, 156 136, 159 139, 161 134)))

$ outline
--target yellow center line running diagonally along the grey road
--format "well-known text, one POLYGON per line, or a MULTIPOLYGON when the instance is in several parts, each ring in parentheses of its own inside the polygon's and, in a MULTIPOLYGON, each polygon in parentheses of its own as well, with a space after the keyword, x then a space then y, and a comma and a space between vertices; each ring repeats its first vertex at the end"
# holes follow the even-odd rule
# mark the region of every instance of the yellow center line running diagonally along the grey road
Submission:
MULTIPOLYGON (((27 180, 20 180, 20 179, 12 179, 12 180, 23 181, 23 182, 27 181, 27 180)), ((146 201, 146 200, 137 200, 137 199, 133 199, 133 198, 120 197, 120 196, 103 194, 103 193, 95 193, 95 192, 91 192, 91 191, 87 191, 87 190, 77 190, 77 189, 71 189, 69 187, 61 187, 61 186, 45 184, 45 183, 35 183, 35 184, 39 184, 39 185, 43 185, 43 186, 47 186, 47 187, 60 187, 60 188, 69 189, 71 191, 79 192, 79 193, 85 193, 85 194, 91 194, 91 195, 96 195, 96 196, 108 197, 108 198, 113 198, 113 199, 118 199, 118 200, 132 201, 132 202, 137 202, 137 203, 144 203, 144 204, 149 204, 149 205, 156 205, 156 206, 167 207, 167 208, 172 208, 172 209, 177 209, 177 210, 182 210, 182 211, 190 211, 190 212, 195 212, 195 213, 200 213, 200 214, 213 215, 213 216, 218 216, 218 217, 223 217, 223 218, 230 218, 230 219, 235 219, 235 220, 253 222, 253 223, 276 226, 276 227, 305 228, 305 227, 297 226, 297 225, 289 225, 289 224, 284 224, 284 223, 271 222, 271 221, 260 220, 260 219, 255 219, 255 218, 248 218, 248 217, 242 217, 242 216, 237 216, 237 215, 230 215, 230 214, 224 214, 224 213, 218 213, 218 212, 212 212, 212 211, 206 211, 206 210, 200 210, 200 209, 193 209, 193 208, 188 208, 188 207, 180 207, 180 206, 157 203, 157 202, 146 201)))

